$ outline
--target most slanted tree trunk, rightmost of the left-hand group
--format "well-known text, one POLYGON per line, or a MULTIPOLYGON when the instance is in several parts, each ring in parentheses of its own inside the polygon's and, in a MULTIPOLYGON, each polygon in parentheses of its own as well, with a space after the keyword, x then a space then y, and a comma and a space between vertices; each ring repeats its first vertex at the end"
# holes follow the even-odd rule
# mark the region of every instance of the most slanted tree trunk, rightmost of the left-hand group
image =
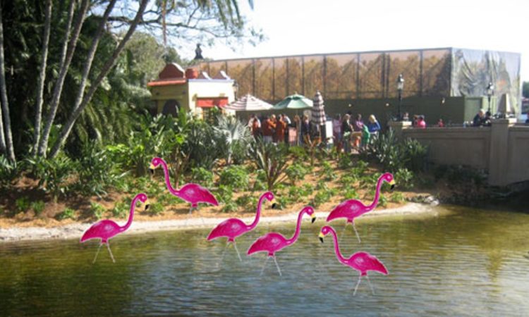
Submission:
POLYGON ((130 37, 133 35, 136 26, 138 26, 138 23, 140 20, 142 20, 143 12, 145 11, 145 7, 147 6, 148 0, 141 0, 140 1, 140 8, 138 8, 138 12, 136 13, 136 16, 132 23, 130 23, 130 27, 128 28, 128 31, 119 43, 118 47, 112 54, 111 58, 105 65, 103 66, 101 73, 97 76, 97 79, 92 82, 92 85, 90 86, 90 89, 88 90, 87 94, 83 98, 83 102, 81 102, 80 106, 75 109, 71 113, 70 116, 68 116, 68 119, 66 120, 66 123, 64 124, 63 128, 61 129, 61 132, 59 133, 59 139, 54 144, 54 147, 51 149, 50 157, 54 158, 57 154, 59 154, 59 150, 63 146, 64 142, 66 141, 66 138, 68 138, 68 135, 70 135, 70 132, 72 130, 73 124, 75 123, 75 120, 80 116, 80 113, 83 112, 87 104, 90 102, 92 97, 95 94, 95 91, 97 90, 97 87, 101 84, 104 77, 107 76, 111 68, 116 63, 116 59, 118 58, 119 54, 121 54, 121 51, 123 51, 125 44, 128 42, 130 37))

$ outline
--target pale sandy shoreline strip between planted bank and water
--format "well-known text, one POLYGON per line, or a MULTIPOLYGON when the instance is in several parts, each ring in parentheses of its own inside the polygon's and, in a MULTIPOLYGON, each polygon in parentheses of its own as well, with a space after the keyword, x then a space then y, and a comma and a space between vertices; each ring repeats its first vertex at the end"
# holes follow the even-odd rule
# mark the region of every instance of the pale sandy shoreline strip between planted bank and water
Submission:
MULTIPOLYGON (((408 203, 393 209, 382 209, 366 213, 362 218, 372 218, 381 216, 399 216, 418 213, 435 213, 434 209, 427 204, 408 203)), ((326 218, 329 212, 319 211, 317 218, 326 218)), ((281 223, 295 220, 298 212, 288 213, 282 216, 262 216, 260 223, 281 223)), ((242 218, 246 223, 250 223, 254 217, 242 218)), ((189 230, 195 228, 213 228, 224 218, 189 218, 187 220, 162 220, 162 221, 136 221, 126 232, 127 235, 140 234, 143 232, 154 232, 164 230, 189 230)), ((122 224, 118 222, 118 224, 122 224)), ((73 223, 54 228, 0 228, 0 243, 27 240, 66 240, 79 238, 92 223, 73 223)))

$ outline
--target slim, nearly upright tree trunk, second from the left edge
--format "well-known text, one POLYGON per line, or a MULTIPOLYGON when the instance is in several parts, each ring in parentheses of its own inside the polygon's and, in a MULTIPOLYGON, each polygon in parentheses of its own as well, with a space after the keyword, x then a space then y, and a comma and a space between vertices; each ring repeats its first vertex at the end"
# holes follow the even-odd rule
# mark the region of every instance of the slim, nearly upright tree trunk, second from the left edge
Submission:
POLYGON ((40 122, 42 120, 42 98, 44 95, 44 81, 46 80, 46 65, 48 60, 49 29, 51 25, 51 0, 46 1, 46 12, 44 13, 44 35, 42 39, 42 61, 37 83, 37 104, 35 108, 35 130, 33 131, 32 155, 37 155, 40 139, 40 122))

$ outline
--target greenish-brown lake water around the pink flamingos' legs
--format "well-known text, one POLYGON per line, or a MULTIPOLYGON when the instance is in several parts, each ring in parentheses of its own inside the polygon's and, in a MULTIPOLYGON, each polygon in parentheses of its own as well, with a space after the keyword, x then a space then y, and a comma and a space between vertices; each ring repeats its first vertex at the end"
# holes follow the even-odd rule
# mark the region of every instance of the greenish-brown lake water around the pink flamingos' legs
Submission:
MULTIPOLYGON (((436 215, 358 220, 341 239, 349 256, 368 251, 389 275, 358 273, 336 259, 323 220, 305 219, 300 238, 277 254, 245 256, 269 230, 290 237, 294 224, 262 224, 238 239, 239 262, 209 230, 121 235, 92 264, 97 242, 0 244, 0 315, 447 315, 529 314, 529 214, 443 206, 436 215)), ((343 222, 332 223, 338 232, 343 222)))

